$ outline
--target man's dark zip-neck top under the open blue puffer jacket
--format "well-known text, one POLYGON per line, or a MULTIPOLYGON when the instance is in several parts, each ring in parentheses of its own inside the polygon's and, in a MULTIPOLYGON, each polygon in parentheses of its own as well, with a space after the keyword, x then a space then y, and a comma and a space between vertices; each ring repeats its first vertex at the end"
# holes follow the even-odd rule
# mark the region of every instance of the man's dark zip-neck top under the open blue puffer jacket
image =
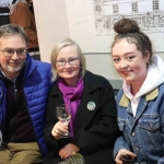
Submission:
POLYGON ((4 142, 36 141, 27 114, 26 98, 23 91, 23 74, 24 69, 13 82, 0 71, 0 78, 7 87, 7 121, 2 131, 4 142))

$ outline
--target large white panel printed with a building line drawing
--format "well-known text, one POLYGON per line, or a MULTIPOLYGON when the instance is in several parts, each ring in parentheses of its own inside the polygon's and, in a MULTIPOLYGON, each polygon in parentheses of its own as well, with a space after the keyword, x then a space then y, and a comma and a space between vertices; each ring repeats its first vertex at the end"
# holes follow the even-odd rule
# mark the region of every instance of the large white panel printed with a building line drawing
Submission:
POLYGON ((85 54, 108 54, 114 24, 133 19, 153 40, 153 50, 164 51, 164 0, 66 0, 69 33, 85 54))

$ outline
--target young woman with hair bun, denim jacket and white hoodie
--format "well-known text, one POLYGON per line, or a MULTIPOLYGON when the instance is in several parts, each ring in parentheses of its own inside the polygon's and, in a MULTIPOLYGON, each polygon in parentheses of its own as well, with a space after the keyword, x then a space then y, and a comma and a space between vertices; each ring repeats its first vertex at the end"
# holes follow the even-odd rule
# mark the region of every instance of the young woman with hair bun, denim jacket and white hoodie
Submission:
POLYGON ((136 21, 114 26, 112 55, 122 89, 117 95, 118 126, 115 161, 130 155, 137 163, 164 163, 164 62, 152 56, 152 44, 136 21))

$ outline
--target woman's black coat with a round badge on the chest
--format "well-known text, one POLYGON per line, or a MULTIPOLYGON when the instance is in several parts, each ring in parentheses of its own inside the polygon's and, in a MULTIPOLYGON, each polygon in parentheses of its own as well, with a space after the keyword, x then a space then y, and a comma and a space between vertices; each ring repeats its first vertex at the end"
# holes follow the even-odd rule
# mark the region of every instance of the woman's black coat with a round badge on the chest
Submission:
POLYGON ((45 164, 57 164, 60 161, 59 150, 69 142, 80 148, 79 153, 84 156, 86 164, 113 164, 113 147, 119 129, 115 95, 108 80, 86 71, 84 92, 77 112, 74 137, 57 141, 52 138, 51 130, 58 121, 56 106, 60 104, 63 104, 62 94, 57 83, 54 83, 44 133, 50 148, 45 164), (89 102, 96 104, 94 110, 87 109, 89 102))

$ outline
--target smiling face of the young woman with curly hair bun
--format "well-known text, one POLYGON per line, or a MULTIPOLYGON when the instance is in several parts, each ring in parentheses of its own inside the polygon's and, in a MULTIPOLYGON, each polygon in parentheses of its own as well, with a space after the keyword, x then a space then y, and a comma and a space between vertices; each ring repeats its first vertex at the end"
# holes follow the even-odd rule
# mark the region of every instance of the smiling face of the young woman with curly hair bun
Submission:
POLYGON ((149 54, 143 57, 133 43, 121 39, 113 47, 113 60, 117 72, 131 85, 142 85, 147 78, 149 54))

